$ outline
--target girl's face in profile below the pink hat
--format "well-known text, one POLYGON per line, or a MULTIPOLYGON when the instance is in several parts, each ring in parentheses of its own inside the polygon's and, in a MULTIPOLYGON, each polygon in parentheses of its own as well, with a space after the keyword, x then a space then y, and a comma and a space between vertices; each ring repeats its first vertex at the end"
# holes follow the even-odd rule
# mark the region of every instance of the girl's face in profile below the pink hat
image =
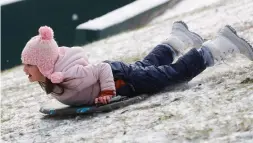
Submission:
POLYGON ((39 71, 38 67, 35 65, 24 64, 24 72, 28 75, 29 81, 40 81, 45 82, 46 78, 39 71))

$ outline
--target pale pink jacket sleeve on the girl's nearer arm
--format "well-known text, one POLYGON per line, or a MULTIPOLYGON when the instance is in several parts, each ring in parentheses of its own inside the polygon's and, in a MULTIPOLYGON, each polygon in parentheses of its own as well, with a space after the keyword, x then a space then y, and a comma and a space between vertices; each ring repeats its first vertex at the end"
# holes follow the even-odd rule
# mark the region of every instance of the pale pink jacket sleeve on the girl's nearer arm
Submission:
POLYGON ((64 79, 70 81, 71 87, 82 84, 81 88, 86 88, 99 82, 101 91, 115 91, 112 70, 107 63, 89 64, 87 66, 75 65, 64 73, 64 79))

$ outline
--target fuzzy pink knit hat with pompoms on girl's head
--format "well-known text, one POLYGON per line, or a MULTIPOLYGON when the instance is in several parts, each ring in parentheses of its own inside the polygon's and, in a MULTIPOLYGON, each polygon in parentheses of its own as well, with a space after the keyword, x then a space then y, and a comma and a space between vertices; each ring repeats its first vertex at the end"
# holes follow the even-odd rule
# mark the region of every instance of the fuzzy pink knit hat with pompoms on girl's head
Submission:
POLYGON ((54 32, 48 26, 39 28, 39 35, 32 37, 21 54, 24 64, 36 65, 40 72, 53 83, 63 80, 61 72, 54 73, 54 64, 58 59, 59 48, 54 40, 54 32))

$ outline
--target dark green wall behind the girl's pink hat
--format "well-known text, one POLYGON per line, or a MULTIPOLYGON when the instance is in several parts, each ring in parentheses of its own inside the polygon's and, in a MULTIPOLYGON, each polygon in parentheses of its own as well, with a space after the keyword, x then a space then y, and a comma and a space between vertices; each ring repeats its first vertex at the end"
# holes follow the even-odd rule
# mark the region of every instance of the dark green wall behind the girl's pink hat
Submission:
POLYGON ((25 0, 1 6, 1 70, 21 64, 26 42, 48 25, 59 46, 73 46, 76 27, 134 0, 25 0), (73 20, 73 14, 78 15, 73 20))

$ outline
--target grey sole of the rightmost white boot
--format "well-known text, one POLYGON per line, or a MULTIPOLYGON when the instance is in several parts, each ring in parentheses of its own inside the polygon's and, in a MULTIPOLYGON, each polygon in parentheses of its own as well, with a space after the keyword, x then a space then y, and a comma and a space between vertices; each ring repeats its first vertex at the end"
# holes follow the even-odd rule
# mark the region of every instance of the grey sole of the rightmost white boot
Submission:
MULTIPOLYGON (((242 42, 242 44, 243 43, 246 43, 247 45, 245 46, 246 47, 246 49, 247 49, 247 53, 249 54, 249 56, 250 57, 248 57, 251 61, 253 61, 253 47, 252 47, 252 45, 247 41, 247 40, 245 40, 244 38, 241 38, 238 34, 237 34, 237 32, 236 32, 236 30, 232 27, 232 26, 230 26, 230 25, 226 25, 225 27, 227 27, 237 38, 239 38, 239 40, 242 40, 242 41, 239 41, 239 42, 242 42)), ((244 44, 243 44, 244 45, 244 44)))

